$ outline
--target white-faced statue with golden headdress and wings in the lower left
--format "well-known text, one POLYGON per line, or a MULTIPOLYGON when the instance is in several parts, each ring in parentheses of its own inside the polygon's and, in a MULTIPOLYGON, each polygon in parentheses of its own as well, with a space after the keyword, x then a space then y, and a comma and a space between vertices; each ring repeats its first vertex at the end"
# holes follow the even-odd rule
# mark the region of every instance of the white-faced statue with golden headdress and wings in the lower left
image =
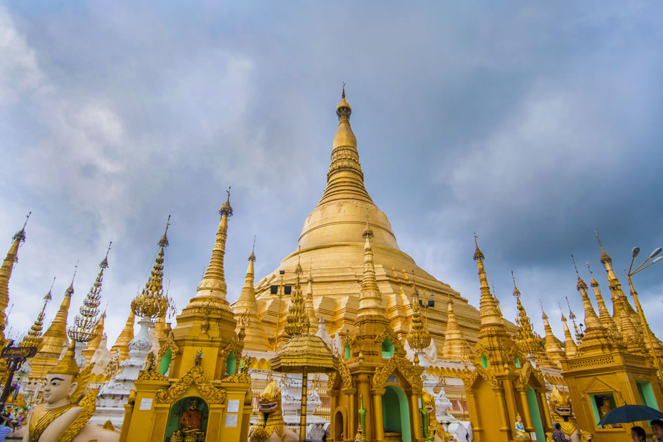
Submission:
POLYGON ((97 390, 85 395, 83 391, 93 365, 79 373, 74 361, 74 344, 72 340, 65 356, 46 375, 44 402, 32 410, 23 442, 119 441, 119 433, 87 423, 95 413, 97 390))

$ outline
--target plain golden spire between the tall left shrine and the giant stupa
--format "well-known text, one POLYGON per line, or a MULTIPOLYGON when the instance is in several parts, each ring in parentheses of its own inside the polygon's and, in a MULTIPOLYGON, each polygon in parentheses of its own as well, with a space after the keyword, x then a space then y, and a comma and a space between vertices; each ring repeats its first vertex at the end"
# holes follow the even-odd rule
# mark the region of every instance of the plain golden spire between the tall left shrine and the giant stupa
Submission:
POLYGON ((250 333, 244 337, 244 348, 247 350, 266 351, 267 335, 264 333, 262 321, 258 315, 257 299, 255 297, 255 288, 253 288, 254 274, 253 263, 255 262, 255 240, 254 248, 251 249, 251 254, 248 257, 248 267, 246 269, 246 276, 244 276, 244 286, 237 302, 233 306, 233 315, 237 321, 236 332, 239 333, 241 328, 248 328, 250 333))

